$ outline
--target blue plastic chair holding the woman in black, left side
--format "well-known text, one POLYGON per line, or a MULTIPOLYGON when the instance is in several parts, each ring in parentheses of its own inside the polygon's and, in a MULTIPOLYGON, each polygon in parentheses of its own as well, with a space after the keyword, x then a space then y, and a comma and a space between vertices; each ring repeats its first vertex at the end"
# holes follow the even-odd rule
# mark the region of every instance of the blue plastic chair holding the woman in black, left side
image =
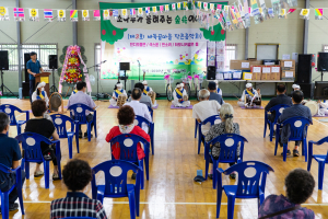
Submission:
POLYGON ((30 163, 44 163, 45 171, 45 186, 49 188, 49 175, 50 175, 50 166, 49 162, 44 159, 44 155, 40 150, 40 142, 45 142, 47 145, 56 143, 56 157, 57 157, 57 165, 58 165, 58 176, 61 180, 61 152, 60 152, 60 140, 50 141, 48 138, 34 134, 34 132, 24 132, 16 138, 20 142, 22 142, 22 149, 24 150, 24 158, 22 159, 22 169, 25 168, 26 178, 30 180, 30 163))

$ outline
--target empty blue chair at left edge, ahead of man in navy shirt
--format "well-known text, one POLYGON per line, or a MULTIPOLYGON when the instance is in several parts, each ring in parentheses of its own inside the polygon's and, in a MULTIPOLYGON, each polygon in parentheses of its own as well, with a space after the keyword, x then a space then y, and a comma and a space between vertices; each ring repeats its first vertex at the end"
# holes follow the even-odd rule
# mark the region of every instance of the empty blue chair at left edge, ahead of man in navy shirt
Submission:
POLYGON ((17 135, 20 135, 22 132, 22 128, 21 128, 22 125, 24 125, 25 123, 27 123, 27 120, 30 120, 30 112, 22 111, 21 108, 16 107, 14 105, 10 105, 10 104, 0 105, 0 112, 3 112, 8 115, 9 119, 10 119, 10 126, 17 127, 17 135), (26 119, 25 120, 16 120, 15 112, 25 113, 26 119))

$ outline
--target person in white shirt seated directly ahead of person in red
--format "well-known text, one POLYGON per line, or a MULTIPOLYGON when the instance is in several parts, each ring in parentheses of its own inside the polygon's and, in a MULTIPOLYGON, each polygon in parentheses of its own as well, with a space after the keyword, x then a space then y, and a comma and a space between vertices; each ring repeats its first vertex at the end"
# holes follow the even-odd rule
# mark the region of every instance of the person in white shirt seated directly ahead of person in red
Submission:
MULTIPOLYGON (((139 102, 141 100, 141 96, 142 96, 142 91, 140 89, 133 89, 131 94, 132 101, 125 103, 125 105, 131 106, 137 116, 142 116, 149 122, 152 122, 152 116, 150 115, 147 105, 139 102)), ((142 129, 148 134, 149 127, 147 124, 144 123, 142 124, 142 129)))

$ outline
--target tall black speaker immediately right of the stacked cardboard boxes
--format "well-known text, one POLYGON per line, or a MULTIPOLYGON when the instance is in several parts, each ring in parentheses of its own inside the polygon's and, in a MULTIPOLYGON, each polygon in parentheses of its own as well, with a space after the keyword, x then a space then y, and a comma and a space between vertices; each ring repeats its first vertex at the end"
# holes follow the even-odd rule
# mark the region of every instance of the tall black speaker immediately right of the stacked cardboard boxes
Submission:
POLYGON ((311 83, 312 54, 300 54, 297 64, 297 83, 311 83))

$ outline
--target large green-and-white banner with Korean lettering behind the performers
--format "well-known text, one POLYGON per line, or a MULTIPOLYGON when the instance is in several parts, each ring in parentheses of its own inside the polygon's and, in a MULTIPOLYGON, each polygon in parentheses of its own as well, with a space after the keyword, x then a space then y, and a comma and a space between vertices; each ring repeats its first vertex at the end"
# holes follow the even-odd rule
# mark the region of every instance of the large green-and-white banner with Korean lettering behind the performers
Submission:
MULTIPOLYGON (((189 73, 201 73, 207 68, 207 42, 225 41, 225 32, 216 19, 210 18, 213 25, 202 28, 196 21, 192 10, 176 10, 161 13, 159 5, 165 3, 106 3, 99 2, 101 13, 108 9, 136 9, 134 18, 110 16, 101 21, 102 60, 101 79, 117 79, 119 62, 130 62, 129 79, 163 80, 168 72, 175 79, 189 73), (157 13, 145 14, 145 7, 157 5, 157 13), (143 15, 138 16, 138 8, 143 15), (180 72, 180 73, 175 73, 180 72)), ((169 9, 172 9, 172 2, 169 9)), ((223 5, 226 2, 221 3, 223 5)))

